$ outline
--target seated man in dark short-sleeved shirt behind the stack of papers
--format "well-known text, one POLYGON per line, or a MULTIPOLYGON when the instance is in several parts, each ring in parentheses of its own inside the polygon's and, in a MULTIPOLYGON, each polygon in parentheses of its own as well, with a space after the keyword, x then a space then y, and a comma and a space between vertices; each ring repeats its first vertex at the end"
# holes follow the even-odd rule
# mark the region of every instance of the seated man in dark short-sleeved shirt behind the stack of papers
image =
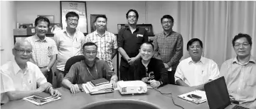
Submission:
POLYGON ((108 66, 107 62, 95 59, 97 55, 97 45, 93 42, 86 42, 82 45, 82 53, 85 60, 72 65, 68 74, 65 75, 62 85, 69 88, 71 93, 80 92, 78 84, 85 84, 93 79, 105 78, 110 80, 113 87, 116 87, 117 74, 108 66))

